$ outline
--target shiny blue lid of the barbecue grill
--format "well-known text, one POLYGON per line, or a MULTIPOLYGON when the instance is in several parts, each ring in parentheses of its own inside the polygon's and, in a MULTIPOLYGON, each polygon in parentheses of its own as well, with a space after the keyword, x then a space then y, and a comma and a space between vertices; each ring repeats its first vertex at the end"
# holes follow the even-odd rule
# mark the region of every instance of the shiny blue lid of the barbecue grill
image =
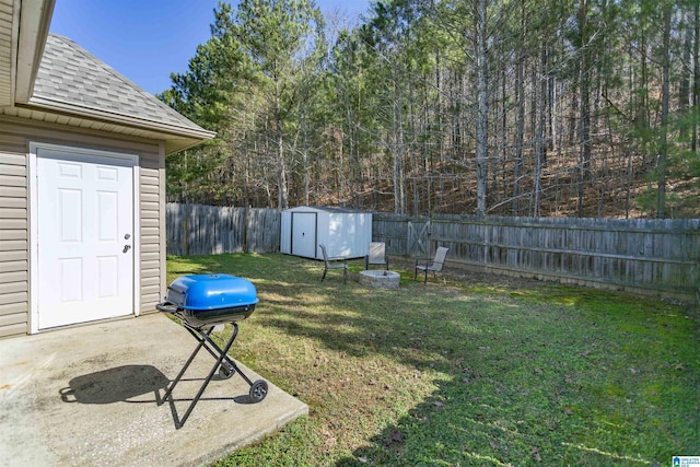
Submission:
POLYGON ((253 283, 229 275, 179 277, 167 287, 167 301, 191 311, 232 308, 258 303, 253 283))

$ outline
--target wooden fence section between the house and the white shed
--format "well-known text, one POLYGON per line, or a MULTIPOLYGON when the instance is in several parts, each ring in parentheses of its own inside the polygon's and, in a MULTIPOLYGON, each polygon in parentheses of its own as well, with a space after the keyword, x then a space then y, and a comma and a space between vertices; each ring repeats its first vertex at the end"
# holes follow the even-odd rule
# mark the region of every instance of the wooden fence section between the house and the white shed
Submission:
POLYGON ((165 207, 167 254, 268 253, 280 249, 280 211, 179 205, 165 207))

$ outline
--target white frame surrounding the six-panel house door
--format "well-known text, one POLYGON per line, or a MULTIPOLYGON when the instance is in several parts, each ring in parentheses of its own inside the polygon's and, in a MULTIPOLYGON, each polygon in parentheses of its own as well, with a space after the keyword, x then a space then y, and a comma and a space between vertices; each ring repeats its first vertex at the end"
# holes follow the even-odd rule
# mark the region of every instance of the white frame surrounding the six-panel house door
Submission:
MULTIPOLYGON (((132 166, 132 202, 131 207, 131 222, 133 223, 133 235, 132 235, 132 248, 133 248, 133 283, 131 284, 131 289, 133 291, 133 296, 131 299, 132 314, 133 316, 139 316, 140 311, 140 302, 141 302, 141 293, 139 291, 139 283, 141 282, 140 271, 141 271, 141 245, 140 245, 140 172, 139 172, 139 156, 137 154, 128 154, 121 152, 113 152, 113 151, 104 151, 81 147, 72 147, 72 145, 63 145, 63 144, 50 144, 44 142, 30 142, 30 154, 28 154, 28 166, 27 166, 27 179, 28 179, 28 231, 30 231, 30 334, 37 334, 42 331, 38 328, 38 167, 37 167, 37 152, 39 150, 47 151, 59 151, 59 152, 68 152, 82 156, 100 156, 100 157, 108 157, 121 161, 129 161, 132 166)), ((77 323, 75 325, 80 325, 77 323)))

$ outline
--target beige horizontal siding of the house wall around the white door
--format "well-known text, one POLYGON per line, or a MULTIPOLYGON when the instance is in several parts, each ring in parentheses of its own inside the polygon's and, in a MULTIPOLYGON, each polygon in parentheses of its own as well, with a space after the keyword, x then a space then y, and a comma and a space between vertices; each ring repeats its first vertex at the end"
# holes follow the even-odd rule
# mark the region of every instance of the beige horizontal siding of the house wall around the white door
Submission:
POLYGON ((139 156, 139 312, 154 312, 165 281, 164 144, 0 117, 0 338, 30 332, 30 142, 139 156))

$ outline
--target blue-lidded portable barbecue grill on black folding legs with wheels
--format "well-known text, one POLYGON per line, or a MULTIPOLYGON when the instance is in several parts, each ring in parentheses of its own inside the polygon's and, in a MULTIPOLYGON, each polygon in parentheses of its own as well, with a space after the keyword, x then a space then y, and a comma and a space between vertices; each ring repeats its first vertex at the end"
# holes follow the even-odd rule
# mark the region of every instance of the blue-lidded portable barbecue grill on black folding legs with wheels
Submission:
POLYGON ((248 397, 252 402, 259 402, 265 399, 268 385, 265 380, 252 382, 228 355, 233 341, 238 335, 237 322, 250 316, 258 303, 255 287, 247 280, 229 275, 199 275, 183 276, 177 278, 167 288, 167 295, 162 303, 156 305, 161 312, 171 313, 179 318, 180 324, 199 342, 195 351, 180 370, 177 377, 166 388, 163 398, 159 401, 162 405, 173 394, 173 389, 195 360, 195 357, 203 348, 214 359, 215 363, 211 367, 209 375, 205 378, 199 392, 191 400, 187 411, 182 419, 175 420, 177 429, 185 424, 185 421, 199 401, 205 389, 218 372, 222 378, 230 378, 234 373, 238 373, 248 385, 250 392, 248 397), (231 323, 233 334, 223 348, 219 347, 210 337, 214 327, 231 323))

